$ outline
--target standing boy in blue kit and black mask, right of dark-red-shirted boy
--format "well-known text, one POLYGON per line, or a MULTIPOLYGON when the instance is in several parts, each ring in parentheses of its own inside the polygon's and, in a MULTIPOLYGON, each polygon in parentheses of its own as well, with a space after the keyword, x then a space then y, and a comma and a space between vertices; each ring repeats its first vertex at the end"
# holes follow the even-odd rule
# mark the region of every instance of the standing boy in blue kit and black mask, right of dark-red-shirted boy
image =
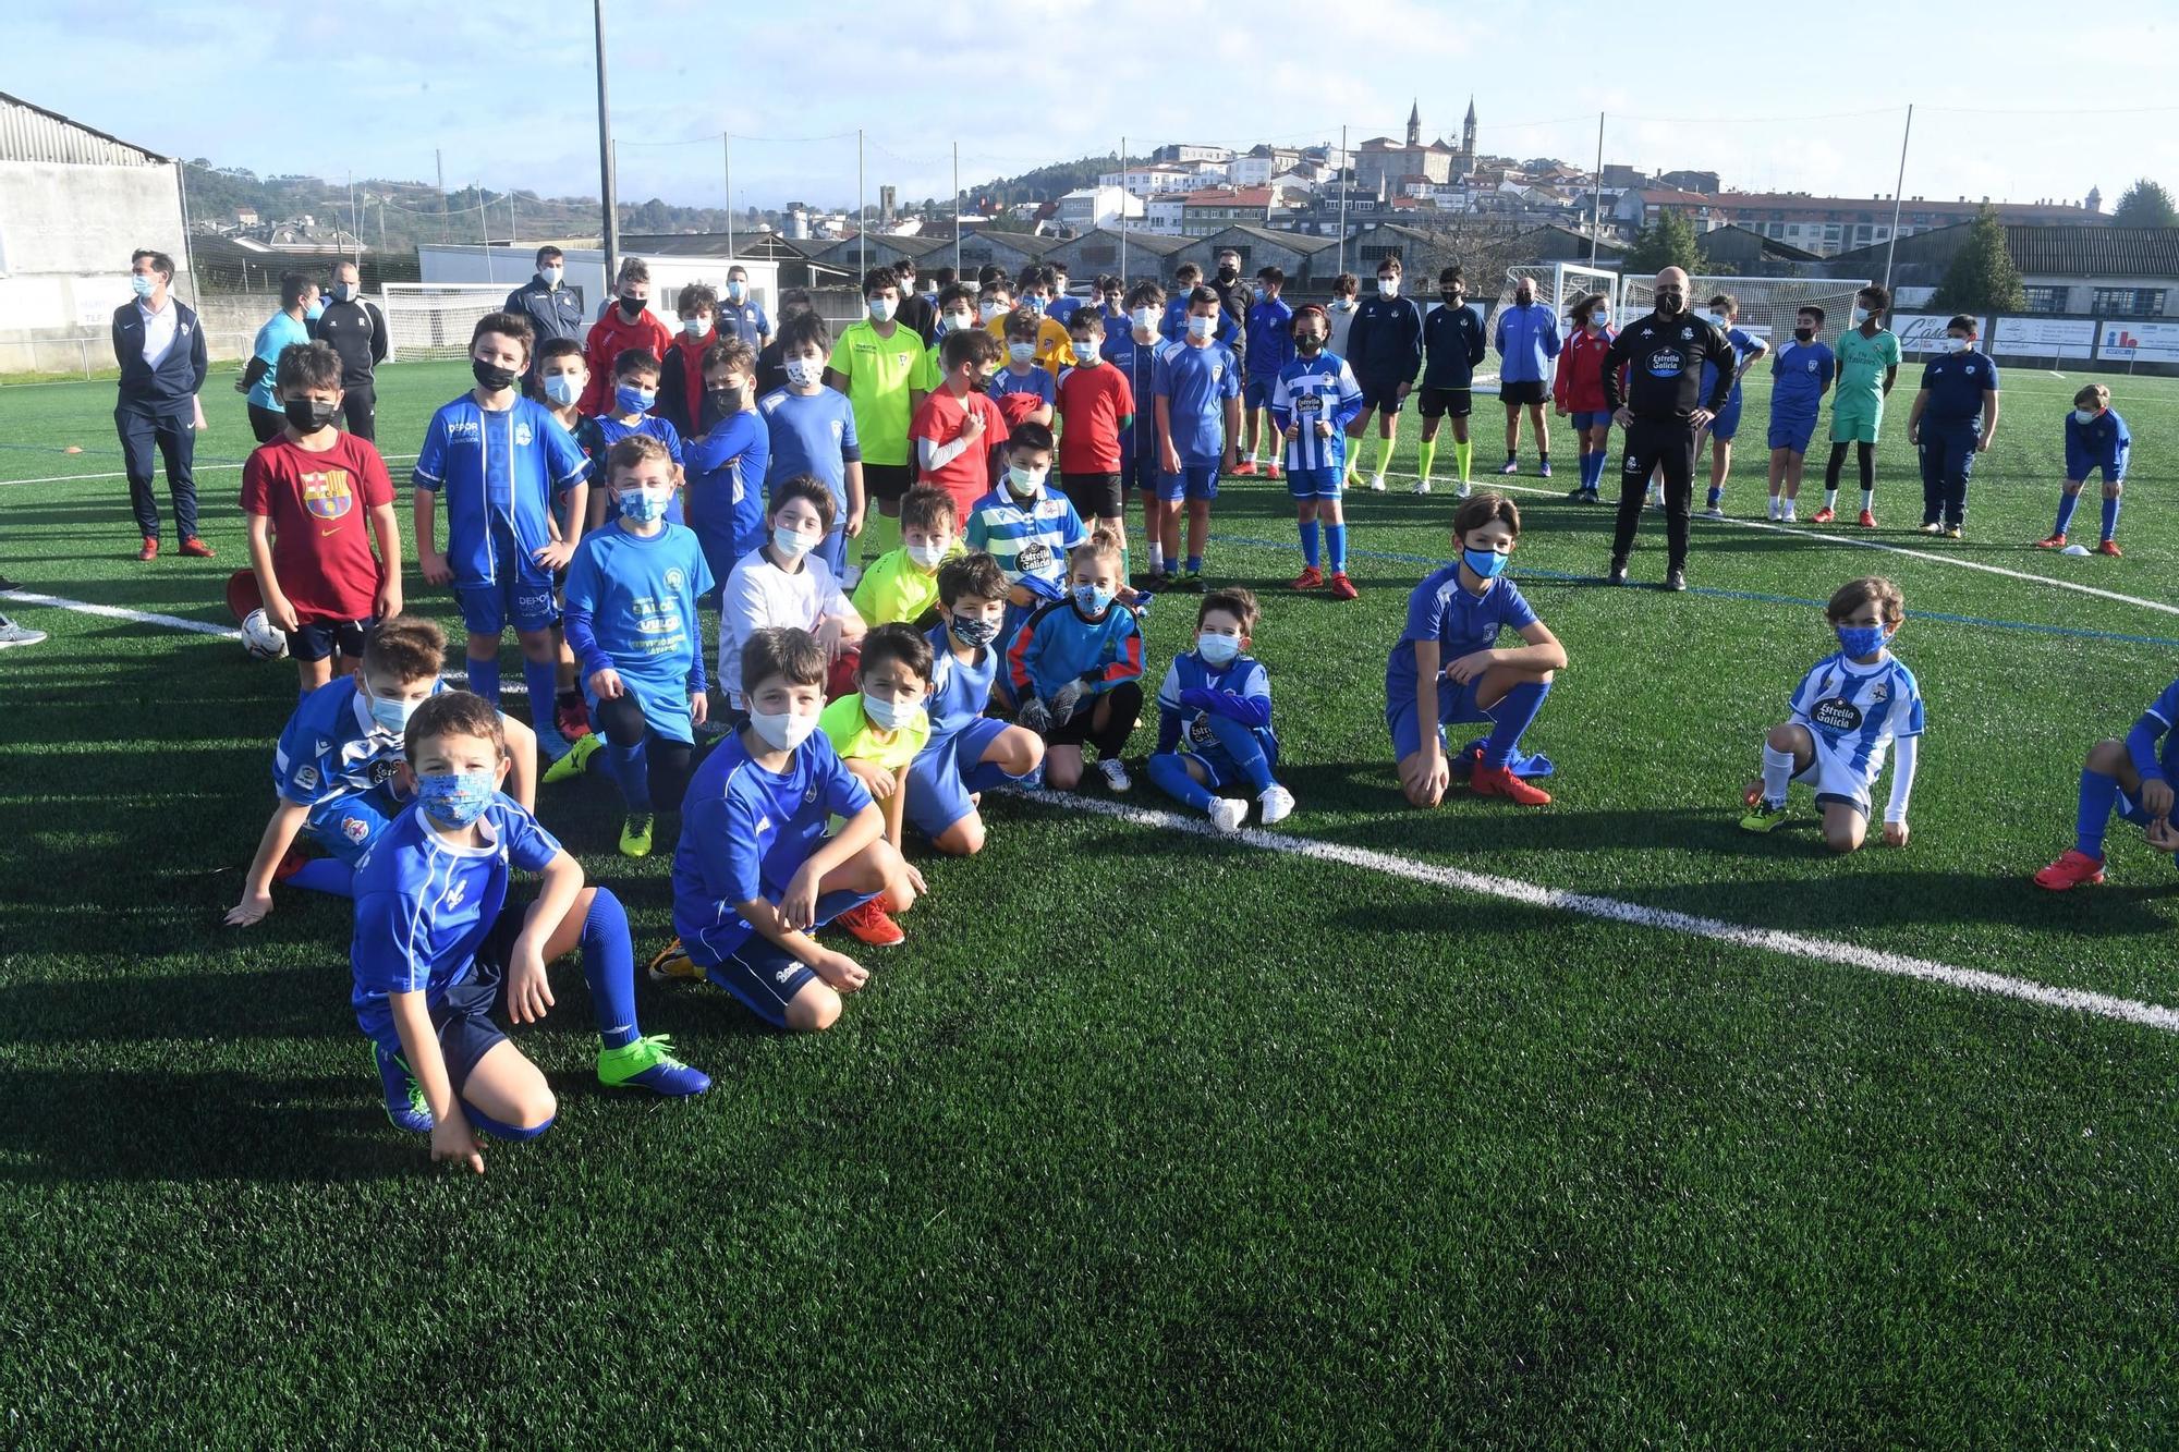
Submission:
POLYGON ((551 412, 516 392, 529 368, 529 320, 488 312, 468 336, 475 390, 431 414, 414 467, 416 562, 431 584, 453 584, 468 628, 468 689, 499 702, 499 637, 514 626, 529 687, 529 722, 553 761, 567 739, 553 724, 558 645, 551 576, 582 539, 573 515, 591 460, 551 412), (447 552, 434 543, 447 495, 447 552), (569 519, 556 525, 551 499, 569 519))

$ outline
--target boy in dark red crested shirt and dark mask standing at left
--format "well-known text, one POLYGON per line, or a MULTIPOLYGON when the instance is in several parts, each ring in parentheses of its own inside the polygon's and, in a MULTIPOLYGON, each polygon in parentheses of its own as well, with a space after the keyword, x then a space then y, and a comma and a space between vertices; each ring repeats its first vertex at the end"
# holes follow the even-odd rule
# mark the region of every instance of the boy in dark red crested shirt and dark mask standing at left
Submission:
POLYGON ((266 619, 309 695, 355 667, 375 619, 401 613, 401 523, 379 451, 336 425, 333 349, 288 344, 275 377, 283 427, 242 464, 242 512, 266 619))

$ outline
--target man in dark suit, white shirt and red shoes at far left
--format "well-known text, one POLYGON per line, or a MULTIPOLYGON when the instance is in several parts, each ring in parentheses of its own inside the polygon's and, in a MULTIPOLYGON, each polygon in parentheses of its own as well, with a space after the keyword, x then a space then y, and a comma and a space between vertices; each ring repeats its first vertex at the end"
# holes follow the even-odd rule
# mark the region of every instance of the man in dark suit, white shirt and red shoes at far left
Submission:
POLYGON ((170 297, 174 259, 139 249, 129 259, 135 301, 113 310, 113 362, 122 386, 113 406, 113 429, 122 438, 129 473, 129 508, 144 536, 139 560, 159 558, 159 499, 150 493, 150 451, 166 462, 166 488, 174 499, 174 532, 181 552, 203 560, 211 545, 196 536, 196 390, 205 386, 211 355, 196 314, 170 297))

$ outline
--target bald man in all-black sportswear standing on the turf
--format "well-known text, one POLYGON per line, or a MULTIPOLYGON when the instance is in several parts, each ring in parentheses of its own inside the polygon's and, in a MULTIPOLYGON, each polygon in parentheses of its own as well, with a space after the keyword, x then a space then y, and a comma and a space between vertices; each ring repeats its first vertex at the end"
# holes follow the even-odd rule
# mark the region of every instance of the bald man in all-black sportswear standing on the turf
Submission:
POLYGON ((1626 429, 1619 471, 1619 528, 1612 530, 1612 584, 1628 582, 1628 549, 1641 523, 1650 471, 1665 473, 1665 589, 1687 589, 1687 512, 1695 484, 1695 432, 1732 397, 1739 360, 1726 336, 1687 310, 1687 273, 1656 275, 1656 312, 1630 323, 1604 351, 1604 406, 1626 429), (1702 364, 1717 364, 1717 386, 1702 397, 1702 364), (1626 397, 1619 368, 1628 371, 1626 397))

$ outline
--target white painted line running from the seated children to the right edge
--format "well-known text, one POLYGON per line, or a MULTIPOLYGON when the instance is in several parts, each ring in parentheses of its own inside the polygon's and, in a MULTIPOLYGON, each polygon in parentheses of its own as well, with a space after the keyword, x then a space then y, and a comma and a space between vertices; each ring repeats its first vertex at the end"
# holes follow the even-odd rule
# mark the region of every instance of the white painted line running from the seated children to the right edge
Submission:
POLYGON ((1146 807, 1127 807, 1122 802, 1096 796, 1076 796, 1070 791, 1009 791, 1009 796, 1018 796, 1024 802, 1050 802, 1068 807, 1072 811, 1087 811, 1100 818, 1116 818, 1120 822, 1131 822, 1135 826, 1183 831, 1196 837, 1209 837, 1212 842, 1240 842, 1244 846, 1262 848, 1266 852, 1286 852, 1290 857, 1307 857, 1310 861, 1329 861, 1342 868, 1362 868, 1364 872, 1381 872, 1384 876, 1401 876, 1414 883, 1451 887, 1456 892, 1473 892, 1488 898, 1504 898, 1508 903, 1523 903, 1527 907, 1554 907, 1558 911, 1575 913, 1580 918, 1626 922, 1630 927, 1660 929, 1667 933, 1682 933, 1687 937, 1708 937, 1711 942, 1724 942, 1737 948, 1761 948, 1765 953, 1806 957, 1819 964, 1843 964, 1850 968, 1863 968, 1867 972, 1880 972, 1887 977, 1920 979, 1924 983, 1944 983, 1946 988, 1963 988, 1968 992, 1979 992, 1979 994, 1998 994, 2003 999, 2020 999, 2022 1003, 2035 1003, 2040 1007, 2070 1009, 2077 1014, 2092 1014, 2096 1018, 2114 1018, 2118 1023, 2133 1023, 2146 1029, 2164 1029, 2166 1033, 2179 1033, 2179 1007, 2166 1007, 2162 1003, 2116 999, 2111 994, 2098 994, 2085 988, 2055 988, 2050 983, 2035 983, 2031 979, 2011 979, 2005 977, 2003 972, 1985 972, 1981 968, 1955 968, 1952 964, 1939 964, 1926 957, 1907 957, 1904 953, 1885 953, 1880 948, 1863 948, 1861 944, 1839 942, 1835 937, 1811 937, 1806 933, 1785 933, 1778 929, 1743 927, 1739 922, 1724 922, 1719 918, 1697 918, 1693 913, 1680 913, 1663 907, 1643 907, 1641 903, 1599 898, 1588 892, 1567 892, 1562 887, 1545 887, 1541 883, 1527 883, 1517 876, 1495 876, 1488 872, 1469 872, 1464 868, 1442 868, 1436 863, 1416 861, 1412 857, 1399 857, 1395 852, 1340 846, 1334 842, 1318 842, 1314 837, 1290 837, 1283 833, 1268 833, 1259 828, 1244 828, 1240 833, 1220 833, 1205 818, 1155 811, 1146 807))

